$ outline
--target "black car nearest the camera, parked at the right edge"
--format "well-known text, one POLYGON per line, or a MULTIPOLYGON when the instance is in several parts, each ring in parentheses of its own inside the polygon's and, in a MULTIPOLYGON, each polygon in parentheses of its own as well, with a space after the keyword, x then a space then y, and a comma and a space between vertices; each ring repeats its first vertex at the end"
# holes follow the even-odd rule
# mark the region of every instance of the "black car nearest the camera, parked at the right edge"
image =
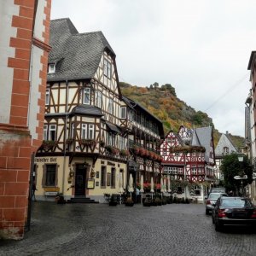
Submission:
POLYGON ((217 231, 224 225, 256 226, 256 207, 248 198, 219 197, 212 210, 212 223, 217 231))

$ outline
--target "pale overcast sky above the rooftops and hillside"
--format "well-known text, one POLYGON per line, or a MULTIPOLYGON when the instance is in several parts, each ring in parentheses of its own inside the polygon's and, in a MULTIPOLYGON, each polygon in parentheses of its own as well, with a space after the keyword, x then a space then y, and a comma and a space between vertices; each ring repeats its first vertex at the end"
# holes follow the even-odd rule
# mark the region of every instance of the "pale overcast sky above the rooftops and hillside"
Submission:
POLYGON ((79 32, 103 32, 119 81, 172 84, 218 131, 244 137, 255 1, 52 0, 51 19, 66 17, 79 32))

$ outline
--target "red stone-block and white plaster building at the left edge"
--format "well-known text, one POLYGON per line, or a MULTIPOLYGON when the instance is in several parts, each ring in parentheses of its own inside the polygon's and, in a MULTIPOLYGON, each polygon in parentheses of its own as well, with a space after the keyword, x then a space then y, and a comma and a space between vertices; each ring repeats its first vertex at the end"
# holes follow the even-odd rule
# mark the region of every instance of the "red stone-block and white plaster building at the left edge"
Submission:
POLYGON ((42 143, 51 0, 0 0, 0 239, 21 239, 42 143))

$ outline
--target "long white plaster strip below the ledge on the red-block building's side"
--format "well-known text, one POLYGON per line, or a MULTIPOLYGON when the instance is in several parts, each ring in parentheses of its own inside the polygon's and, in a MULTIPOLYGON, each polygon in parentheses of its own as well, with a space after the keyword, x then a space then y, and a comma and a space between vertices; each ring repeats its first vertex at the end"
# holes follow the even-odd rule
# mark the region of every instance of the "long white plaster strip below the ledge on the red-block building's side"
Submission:
POLYGON ((40 56, 44 54, 44 50, 32 45, 32 62, 31 62, 31 90, 30 90, 30 106, 28 113, 28 127, 31 131, 32 139, 38 138, 36 128, 38 126, 38 99, 41 97, 38 86, 42 84, 42 79, 39 78, 40 70, 43 69, 43 65, 40 62, 40 56))

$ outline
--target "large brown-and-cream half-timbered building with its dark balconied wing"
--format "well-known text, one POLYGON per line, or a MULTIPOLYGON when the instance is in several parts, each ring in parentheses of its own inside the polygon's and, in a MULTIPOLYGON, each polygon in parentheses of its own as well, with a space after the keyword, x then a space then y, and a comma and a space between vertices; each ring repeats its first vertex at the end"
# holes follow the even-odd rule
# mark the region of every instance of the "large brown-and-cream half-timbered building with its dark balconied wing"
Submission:
POLYGON ((102 32, 79 33, 69 19, 52 20, 50 45, 38 195, 102 201, 104 193, 126 188, 127 171, 134 182, 138 170, 160 172, 160 159, 144 157, 137 168, 128 142, 157 150, 162 124, 121 95, 115 54, 102 32))

